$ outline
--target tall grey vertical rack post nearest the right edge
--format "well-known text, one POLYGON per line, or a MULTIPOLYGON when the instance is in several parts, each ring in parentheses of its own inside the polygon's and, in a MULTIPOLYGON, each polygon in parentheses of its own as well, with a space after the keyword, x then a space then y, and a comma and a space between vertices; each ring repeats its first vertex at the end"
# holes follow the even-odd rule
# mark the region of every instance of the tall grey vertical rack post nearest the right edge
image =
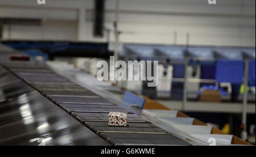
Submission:
POLYGON ((243 76, 243 113, 242 113, 242 125, 243 130, 241 134, 241 138, 245 141, 247 139, 246 132, 246 121, 247 121, 247 86, 248 86, 248 70, 249 70, 249 60, 245 59, 245 73, 243 76))

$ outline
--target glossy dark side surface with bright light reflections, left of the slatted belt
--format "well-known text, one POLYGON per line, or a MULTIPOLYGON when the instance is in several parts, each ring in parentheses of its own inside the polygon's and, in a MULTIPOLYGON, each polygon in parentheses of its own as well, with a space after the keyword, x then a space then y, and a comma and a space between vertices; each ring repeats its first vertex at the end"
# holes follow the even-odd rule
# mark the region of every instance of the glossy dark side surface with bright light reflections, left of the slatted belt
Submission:
POLYGON ((2 67, 0 80, 0 145, 109 145, 2 67))

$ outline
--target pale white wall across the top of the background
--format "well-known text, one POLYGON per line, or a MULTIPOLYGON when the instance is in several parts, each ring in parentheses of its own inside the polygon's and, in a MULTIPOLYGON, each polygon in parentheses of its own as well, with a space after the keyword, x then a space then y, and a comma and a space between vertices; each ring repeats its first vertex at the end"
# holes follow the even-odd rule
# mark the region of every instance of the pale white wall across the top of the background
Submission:
MULTIPOLYGON (((46 3, 1 0, 0 17, 45 20, 39 28, 12 26, 11 33, 5 27, 4 37, 22 39, 27 32, 26 39, 106 41, 106 36, 93 37, 93 0, 46 3)), ((112 30, 114 9, 115 0, 106 0, 105 27, 112 30)), ((192 45, 255 46, 255 1, 217 0, 209 5, 207 0, 120 0, 119 30, 120 40, 129 43, 173 44, 176 31, 177 44, 185 44, 189 33, 192 45)))

